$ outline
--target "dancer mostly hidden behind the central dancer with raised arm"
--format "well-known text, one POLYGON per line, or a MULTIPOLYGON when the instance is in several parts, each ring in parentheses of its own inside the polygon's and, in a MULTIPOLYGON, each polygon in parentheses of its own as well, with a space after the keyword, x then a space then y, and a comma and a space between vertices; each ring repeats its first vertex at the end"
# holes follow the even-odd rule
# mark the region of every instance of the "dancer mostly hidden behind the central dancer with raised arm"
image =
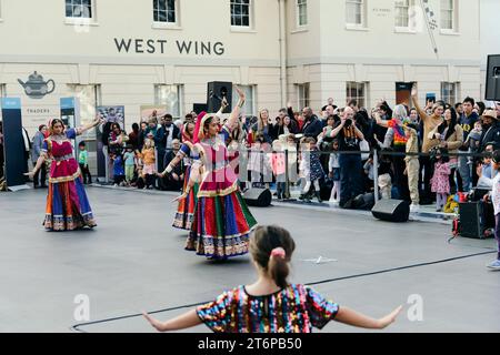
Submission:
MULTIPOLYGON (((182 145, 177 153, 176 158, 170 162, 166 170, 158 174, 159 178, 170 174, 173 169, 183 161, 186 166, 184 171, 184 184, 182 191, 188 187, 189 178, 191 175, 191 166, 193 163, 193 132, 194 123, 188 122, 182 129, 182 145)), ((186 199, 179 201, 177 206, 176 217, 173 219, 172 226, 180 230, 191 231, 192 219, 194 216, 194 207, 197 205, 198 182, 194 183, 191 191, 189 191, 186 199)))

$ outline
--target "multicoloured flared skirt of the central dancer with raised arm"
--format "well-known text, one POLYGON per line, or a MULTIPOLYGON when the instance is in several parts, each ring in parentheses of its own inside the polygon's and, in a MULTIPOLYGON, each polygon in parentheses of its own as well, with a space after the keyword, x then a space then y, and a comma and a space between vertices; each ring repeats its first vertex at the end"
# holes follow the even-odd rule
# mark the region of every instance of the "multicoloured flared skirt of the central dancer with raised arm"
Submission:
POLYGON ((214 260, 247 254, 249 233, 256 225, 239 191, 199 197, 186 250, 214 260))

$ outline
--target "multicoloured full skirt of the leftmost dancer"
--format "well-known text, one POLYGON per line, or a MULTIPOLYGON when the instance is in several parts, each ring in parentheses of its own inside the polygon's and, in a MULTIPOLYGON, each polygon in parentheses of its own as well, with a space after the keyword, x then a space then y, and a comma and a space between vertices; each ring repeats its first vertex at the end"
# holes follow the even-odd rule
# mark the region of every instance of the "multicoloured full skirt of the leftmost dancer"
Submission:
POLYGON ((80 178, 49 183, 43 225, 49 231, 73 231, 97 225, 80 178))

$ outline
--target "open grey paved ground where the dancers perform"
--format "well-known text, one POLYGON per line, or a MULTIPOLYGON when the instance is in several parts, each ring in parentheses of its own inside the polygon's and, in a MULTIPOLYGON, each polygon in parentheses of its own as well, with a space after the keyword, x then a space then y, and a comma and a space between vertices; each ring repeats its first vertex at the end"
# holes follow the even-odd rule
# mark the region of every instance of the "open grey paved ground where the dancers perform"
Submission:
MULTIPOLYGON (((74 296, 90 298, 91 321, 209 301, 253 280, 248 256, 226 264, 183 251, 186 233, 170 227, 173 195, 88 189, 99 226, 47 233, 44 191, 0 193, 0 332, 70 332, 74 296)), ((394 267, 492 252, 492 240, 447 244, 442 223, 391 224, 366 213, 274 205, 252 209, 260 224, 288 227, 298 244, 291 281, 316 283, 394 267), (319 256, 337 260, 316 264, 319 256)), ((404 314, 388 332, 500 332, 500 273, 494 254, 317 284, 337 301, 372 316, 399 304, 404 314), (423 321, 407 317, 419 295, 423 321)), ((168 318, 180 312, 158 314, 168 318)), ((140 317, 79 327, 86 332, 150 332, 140 317)), ((208 332, 204 326, 196 332, 208 332)), ((331 323, 323 332, 359 332, 331 323)))

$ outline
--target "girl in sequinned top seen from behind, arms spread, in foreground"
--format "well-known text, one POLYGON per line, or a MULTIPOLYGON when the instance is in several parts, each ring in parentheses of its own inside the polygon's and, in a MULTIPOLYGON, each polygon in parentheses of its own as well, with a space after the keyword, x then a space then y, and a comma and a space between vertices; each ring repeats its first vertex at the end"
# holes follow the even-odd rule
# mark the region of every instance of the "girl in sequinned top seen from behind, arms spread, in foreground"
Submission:
POLYGON ((311 333, 331 320, 382 329, 396 321, 401 306, 373 320, 330 302, 311 287, 287 281, 296 248, 290 233, 279 226, 259 226, 250 240, 250 252, 259 278, 251 285, 222 293, 216 301, 177 318, 160 322, 143 313, 159 332, 204 323, 216 333, 311 333))

